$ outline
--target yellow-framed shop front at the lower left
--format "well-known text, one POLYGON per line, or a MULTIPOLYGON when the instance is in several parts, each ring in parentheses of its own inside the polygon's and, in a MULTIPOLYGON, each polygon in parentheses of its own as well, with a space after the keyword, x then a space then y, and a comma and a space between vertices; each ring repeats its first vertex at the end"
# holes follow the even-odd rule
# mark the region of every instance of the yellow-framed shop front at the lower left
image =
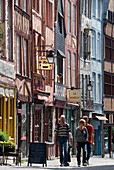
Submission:
POLYGON ((15 143, 16 88, 0 84, 0 130, 15 143))

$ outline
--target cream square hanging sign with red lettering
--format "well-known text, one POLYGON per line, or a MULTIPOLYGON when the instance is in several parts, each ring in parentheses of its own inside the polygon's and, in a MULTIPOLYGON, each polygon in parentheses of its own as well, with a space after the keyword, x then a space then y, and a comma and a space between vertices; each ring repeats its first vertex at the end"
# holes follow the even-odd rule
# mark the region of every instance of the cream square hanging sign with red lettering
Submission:
POLYGON ((67 90, 67 100, 71 103, 81 102, 81 90, 67 90))

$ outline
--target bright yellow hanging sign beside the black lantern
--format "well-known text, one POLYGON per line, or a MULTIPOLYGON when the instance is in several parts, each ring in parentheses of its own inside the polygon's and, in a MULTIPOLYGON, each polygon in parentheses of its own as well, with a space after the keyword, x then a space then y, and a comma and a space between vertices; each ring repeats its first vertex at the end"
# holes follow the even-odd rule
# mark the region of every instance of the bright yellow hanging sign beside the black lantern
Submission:
POLYGON ((39 56, 39 70, 52 70, 52 64, 48 63, 46 56, 39 56))

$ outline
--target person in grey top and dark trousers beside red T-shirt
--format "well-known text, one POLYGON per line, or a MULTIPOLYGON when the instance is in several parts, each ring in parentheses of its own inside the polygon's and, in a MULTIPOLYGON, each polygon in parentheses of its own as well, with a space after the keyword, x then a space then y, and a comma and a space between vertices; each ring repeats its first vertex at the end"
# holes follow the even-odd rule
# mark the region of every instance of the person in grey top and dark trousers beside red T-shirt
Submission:
POLYGON ((87 166, 86 163, 86 142, 88 140, 88 132, 86 127, 84 126, 85 120, 80 119, 79 121, 79 126, 76 128, 76 134, 75 134, 75 139, 76 139, 76 146, 77 146, 77 163, 78 167, 80 167, 81 163, 81 148, 83 149, 83 166, 87 166))

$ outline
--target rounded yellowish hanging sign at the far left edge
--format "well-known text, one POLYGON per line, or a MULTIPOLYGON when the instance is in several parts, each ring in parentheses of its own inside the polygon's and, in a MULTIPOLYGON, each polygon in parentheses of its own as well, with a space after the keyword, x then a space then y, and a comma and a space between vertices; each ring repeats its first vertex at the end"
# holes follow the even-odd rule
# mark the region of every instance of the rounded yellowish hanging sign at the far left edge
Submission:
POLYGON ((4 44, 5 40, 5 23, 0 23, 0 47, 4 44))

